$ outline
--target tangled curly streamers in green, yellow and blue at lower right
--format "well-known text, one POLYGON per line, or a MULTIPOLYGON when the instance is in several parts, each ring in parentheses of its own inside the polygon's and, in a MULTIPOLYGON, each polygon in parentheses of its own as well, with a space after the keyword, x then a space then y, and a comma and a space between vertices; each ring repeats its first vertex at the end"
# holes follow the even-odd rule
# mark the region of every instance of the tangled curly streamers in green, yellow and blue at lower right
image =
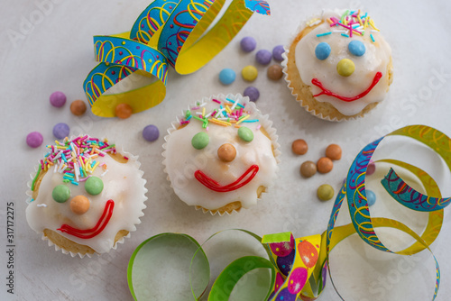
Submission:
MULTIPOLYGON (((208 295, 208 300, 228 300, 239 278, 253 269, 268 269, 272 275, 272 280, 268 284, 269 287, 264 288, 264 293, 266 291, 268 292, 265 300, 315 300, 320 296, 326 286, 327 271, 330 272, 331 269, 328 264, 330 252, 339 242, 342 242, 354 233, 357 233, 364 242, 380 251, 398 255, 412 255, 419 251, 428 250, 432 254, 429 245, 436 240, 440 232, 443 223, 444 208, 446 205, 449 205, 450 198, 443 198, 440 195, 436 181, 424 170, 400 160, 376 161, 391 165, 389 173, 382 179, 382 186, 395 201, 412 210, 428 212, 428 224, 421 235, 413 232, 407 225, 399 221, 382 217, 374 218, 370 214, 365 191, 366 169, 373 157, 374 150, 376 150, 383 138, 393 135, 407 136, 428 145, 445 160, 446 165, 451 171, 451 139, 443 132, 439 132, 426 125, 406 126, 400 130, 391 132, 377 141, 373 141, 359 152, 351 165, 345 184, 336 196, 336 201, 327 224, 327 231, 321 235, 318 234, 302 238, 294 238, 290 232, 276 233, 264 235, 260 239, 256 234, 238 230, 262 242, 262 247, 268 254, 268 257, 245 256, 244 258, 233 261, 216 278, 216 282, 208 295), (426 194, 419 193, 400 178, 394 171, 398 168, 407 169, 411 174, 416 176, 425 188, 426 194), (344 202, 349 207, 352 223, 336 226, 336 218, 344 202), (383 245, 375 233, 374 228, 377 227, 390 227, 400 230, 409 234, 416 242, 412 243, 405 250, 391 251, 383 245), (249 263, 252 264, 249 265, 249 263), (232 278, 230 275, 240 275, 240 277, 232 278), (227 289, 224 290, 224 287, 227 287, 227 289)), ((208 240, 216 235, 217 233, 212 235, 208 240)), ((133 253, 133 257, 139 249, 133 253)), ((200 245, 192 257, 190 270, 195 268, 194 259, 197 254, 205 255, 200 245)), ((436 298, 440 285, 440 269, 434 255, 433 258, 436 263, 436 288, 432 300, 436 298)), ((131 265, 133 265, 133 258, 129 265, 129 275, 131 265)), ((192 282, 191 276, 192 273, 189 277, 190 282, 192 282)), ((333 278, 330 279, 334 285, 333 278)), ((207 282, 207 280, 204 281, 207 282)), ((129 278, 129 286, 133 292, 135 284, 131 278, 129 278)), ((203 292, 205 292, 206 288, 204 288, 203 292)), ((195 293, 193 286, 191 286, 191 291, 193 299, 198 300, 200 295, 195 293)), ((197 291, 202 291, 202 289, 197 288, 197 291)), ((340 296, 338 291, 336 292, 340 296)), ((139 300, 135 295, 133 296, 136 300, 139 300)), ((343 299, 342 296, 340 297, 343 299)), ((240 299, 245 300, 246 298, 243 296, 240 299)))

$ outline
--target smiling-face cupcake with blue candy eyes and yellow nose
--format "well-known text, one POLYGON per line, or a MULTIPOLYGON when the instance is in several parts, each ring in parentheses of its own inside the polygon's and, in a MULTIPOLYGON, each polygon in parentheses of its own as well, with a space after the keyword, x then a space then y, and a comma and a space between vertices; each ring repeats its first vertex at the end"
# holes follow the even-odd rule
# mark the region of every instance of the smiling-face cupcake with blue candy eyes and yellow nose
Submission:
POLYGON ((362 117, 393 79, 391 48, 368 14, 328 11, 299 28, 284 54, 291 94, 319 118, 362 117))

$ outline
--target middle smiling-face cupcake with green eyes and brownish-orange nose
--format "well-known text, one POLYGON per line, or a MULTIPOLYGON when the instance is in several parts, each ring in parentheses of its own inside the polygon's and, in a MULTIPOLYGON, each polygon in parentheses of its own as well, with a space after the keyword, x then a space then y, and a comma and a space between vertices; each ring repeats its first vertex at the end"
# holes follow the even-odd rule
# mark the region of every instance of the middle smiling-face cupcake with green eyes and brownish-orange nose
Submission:
POLYGON ((272 186, 280 154, 276 131, 248 97, 204 98, 168 132, 165 172, 187 205, 231 214, 255 205, 272 186))

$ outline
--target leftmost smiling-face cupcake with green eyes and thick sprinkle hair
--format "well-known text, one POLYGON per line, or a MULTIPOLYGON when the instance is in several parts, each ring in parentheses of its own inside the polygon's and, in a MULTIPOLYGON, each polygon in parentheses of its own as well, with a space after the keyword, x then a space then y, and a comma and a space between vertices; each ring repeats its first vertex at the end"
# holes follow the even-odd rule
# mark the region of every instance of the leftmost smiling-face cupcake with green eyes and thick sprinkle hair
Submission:
POLYGON ((138 158, 87 135, 47 148, 28 193, 32 230, 72 256, 115 249, 143 216, 147 189, 138 158))

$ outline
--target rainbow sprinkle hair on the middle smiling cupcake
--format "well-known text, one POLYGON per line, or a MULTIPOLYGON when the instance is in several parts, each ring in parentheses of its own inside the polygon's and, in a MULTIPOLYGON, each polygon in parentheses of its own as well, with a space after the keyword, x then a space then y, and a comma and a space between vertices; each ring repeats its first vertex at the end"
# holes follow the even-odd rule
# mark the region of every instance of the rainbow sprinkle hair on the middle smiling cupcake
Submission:
POLYGON ((241 126, 240 123, 259 122, 258 119, 249 119, 251 114, 245 110, 245 105, 240 104, 239 97, 236 97, 235 100, 226 98, 223 101, 212 99, 211 102, 216 105, 211 112, 206 112, 205 106, 207 103, 198 103, 186 111, 184 114, 185 118, 179 121, 180 125, 188 124, 191 120, 198 120, 202 123, 204 129, 207 129, 210 123, 222 126, 234 125, 236 128, 239 128, 241 126))

